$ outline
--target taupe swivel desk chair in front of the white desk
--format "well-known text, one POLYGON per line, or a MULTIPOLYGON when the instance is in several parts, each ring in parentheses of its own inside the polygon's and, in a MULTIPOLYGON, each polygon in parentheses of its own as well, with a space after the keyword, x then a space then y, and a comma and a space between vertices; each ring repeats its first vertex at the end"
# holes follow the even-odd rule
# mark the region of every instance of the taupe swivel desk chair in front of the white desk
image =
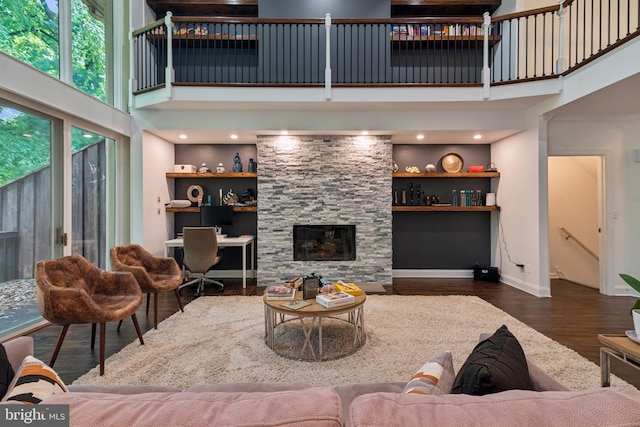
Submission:
POLYGON ((217 280, 205 277, 212 270, 221 257, 218 255, 218 238, 215 227, 184 227, 182 229, 184 242, 184 259, 182 268, 186 281, 180 288, 195 284, 194 297, 199 297, 205 283, 217 285, 220 292, 224 291, 224 285, 217 280), (195 277, 195 278, 194 278, 195 277))

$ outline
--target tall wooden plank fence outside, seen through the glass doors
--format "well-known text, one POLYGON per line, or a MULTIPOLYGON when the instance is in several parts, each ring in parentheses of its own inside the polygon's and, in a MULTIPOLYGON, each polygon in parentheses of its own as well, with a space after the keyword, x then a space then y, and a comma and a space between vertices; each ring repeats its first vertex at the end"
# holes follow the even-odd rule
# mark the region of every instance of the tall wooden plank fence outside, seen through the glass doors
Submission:
MULTIPOLYGON (((106 266, 104 141, 72 156, 72 253, 106 266)), ((52 256, 51 167, 0 186, 0 283, 32 279, 39 260, 52 256)))

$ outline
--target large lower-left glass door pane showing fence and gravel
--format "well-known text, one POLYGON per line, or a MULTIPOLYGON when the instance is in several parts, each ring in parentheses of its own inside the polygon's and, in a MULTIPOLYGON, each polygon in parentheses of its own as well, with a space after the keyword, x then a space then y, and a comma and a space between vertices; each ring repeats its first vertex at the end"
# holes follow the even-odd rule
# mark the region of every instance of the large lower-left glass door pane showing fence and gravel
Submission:
POLYGON ((0 104, 0 334, 40 320, 34 265, 51 258, 51 120, 0 104))

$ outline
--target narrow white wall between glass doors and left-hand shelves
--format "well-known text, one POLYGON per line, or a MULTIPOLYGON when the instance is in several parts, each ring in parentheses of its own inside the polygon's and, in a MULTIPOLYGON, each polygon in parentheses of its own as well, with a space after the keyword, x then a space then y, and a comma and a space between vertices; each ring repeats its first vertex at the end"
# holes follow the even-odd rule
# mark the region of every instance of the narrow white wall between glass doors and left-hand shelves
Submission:
POLYGON ((154 255, 164 254, 164 242, 173 237, 173 214, 164 204, 172 200, 173 184, 167 184, 166 172, 173 170, 175 150, 171 142, 148 132, 142 134, 142 222, 140 242, 154 255), (158 201, 158 199, 160 201, 158 201))

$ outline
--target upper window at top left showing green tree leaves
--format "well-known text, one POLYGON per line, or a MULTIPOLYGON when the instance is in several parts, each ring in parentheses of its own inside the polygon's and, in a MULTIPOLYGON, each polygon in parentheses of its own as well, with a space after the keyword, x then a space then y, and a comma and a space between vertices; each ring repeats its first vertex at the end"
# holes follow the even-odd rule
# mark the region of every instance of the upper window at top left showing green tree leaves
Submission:
POLYGON ((111 13, 111 0, 2 0, 0 50, 108 101, 111 13))

